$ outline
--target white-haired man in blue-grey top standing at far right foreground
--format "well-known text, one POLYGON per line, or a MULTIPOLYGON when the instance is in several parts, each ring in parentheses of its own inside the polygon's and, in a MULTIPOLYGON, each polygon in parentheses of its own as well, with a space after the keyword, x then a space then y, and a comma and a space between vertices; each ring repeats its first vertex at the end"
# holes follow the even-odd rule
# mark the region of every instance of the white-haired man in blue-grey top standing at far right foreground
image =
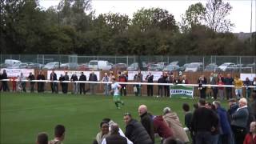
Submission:
POLYGON ((246 137, 246 126, 249 118, 246 98, 239 100, 239 108, 231 116, 231 128, 234 133, 234 141, 242 143, 246 137))

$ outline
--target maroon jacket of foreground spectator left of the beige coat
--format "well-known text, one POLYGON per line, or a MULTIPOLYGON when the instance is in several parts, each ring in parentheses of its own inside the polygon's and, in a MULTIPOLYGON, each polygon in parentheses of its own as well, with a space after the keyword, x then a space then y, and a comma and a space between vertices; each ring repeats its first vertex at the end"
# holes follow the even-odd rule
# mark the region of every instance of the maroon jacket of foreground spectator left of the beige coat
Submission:
POLYGON ((173 131, 162 118, 162 115, 155 116, 153 119, 154 133, 157 133, 161 138, 173 137, 173 131))

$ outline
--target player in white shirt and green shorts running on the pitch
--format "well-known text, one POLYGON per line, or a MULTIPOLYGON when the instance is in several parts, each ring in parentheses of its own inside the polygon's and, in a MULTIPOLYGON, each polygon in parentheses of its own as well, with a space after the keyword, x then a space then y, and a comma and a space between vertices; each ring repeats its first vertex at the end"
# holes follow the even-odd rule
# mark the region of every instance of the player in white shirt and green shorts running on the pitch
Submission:
POLYGON ((115 81, 115 78, 112 78, 112 85, 111 85, 111 91, 110 92, 113 92, 114 91, 114 104, 115 106, 117 106, 118 109, 120 109, 120 106, 119 104, 122 104, 124 105, 124 102, 121 101, 121 96, 120 96, 120 89, 122 86, 120 86, 116 81, 115 81))

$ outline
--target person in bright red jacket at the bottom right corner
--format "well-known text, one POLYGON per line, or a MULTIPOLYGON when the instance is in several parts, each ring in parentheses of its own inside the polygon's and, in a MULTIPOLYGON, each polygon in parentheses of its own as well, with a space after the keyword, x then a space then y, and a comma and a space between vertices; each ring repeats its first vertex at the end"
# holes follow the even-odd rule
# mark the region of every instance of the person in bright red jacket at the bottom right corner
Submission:
POLYGON ((246 134, 246 138, 243 144, 255 144, 256 143, 256 122, 250 123, 250 133, 246 134))

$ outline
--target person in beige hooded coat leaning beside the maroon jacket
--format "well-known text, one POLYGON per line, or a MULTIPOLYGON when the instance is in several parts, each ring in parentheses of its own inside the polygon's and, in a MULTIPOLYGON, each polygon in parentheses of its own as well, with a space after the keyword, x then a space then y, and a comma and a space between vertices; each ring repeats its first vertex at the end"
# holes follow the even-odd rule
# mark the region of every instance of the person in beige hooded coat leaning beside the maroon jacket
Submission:
POLYGON ((183 129, 182 123, 179 121, 178 115, 170 110, 170 107, 166 107, 162 110, 163 119, 167 123, 167 126, 173 132, 173 138, 178 138, 182 142, 190 142, 186 135, 186 131, 183 129))

